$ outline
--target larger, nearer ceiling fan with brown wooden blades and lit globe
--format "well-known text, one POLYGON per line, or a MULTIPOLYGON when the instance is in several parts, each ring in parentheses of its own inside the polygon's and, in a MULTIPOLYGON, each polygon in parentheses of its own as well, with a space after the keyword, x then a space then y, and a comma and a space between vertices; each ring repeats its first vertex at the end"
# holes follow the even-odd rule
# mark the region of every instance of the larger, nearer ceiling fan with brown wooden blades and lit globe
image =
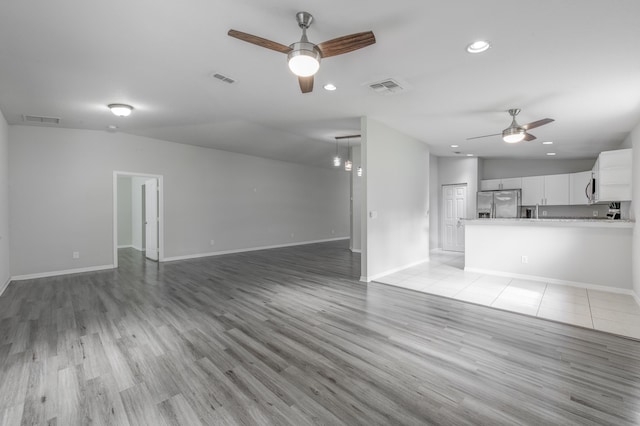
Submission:
POLYGON ((313 16, 308 12, 298 12, 296 19, 298 26, 302 28, 302 38, 300 41, 292 43, 289 46, 252 34, 243 33, 242 31, 229 30, 227 34, 260 47, 286 53, 289 69, 298 76, 302 93, 313 91, 313 76, 320 68, 321 58, 349 53, 376 42, 373 32, 365 31, 334 38, 320 44, 313 44, 307 39, 307 29, 313 22, 313 16))

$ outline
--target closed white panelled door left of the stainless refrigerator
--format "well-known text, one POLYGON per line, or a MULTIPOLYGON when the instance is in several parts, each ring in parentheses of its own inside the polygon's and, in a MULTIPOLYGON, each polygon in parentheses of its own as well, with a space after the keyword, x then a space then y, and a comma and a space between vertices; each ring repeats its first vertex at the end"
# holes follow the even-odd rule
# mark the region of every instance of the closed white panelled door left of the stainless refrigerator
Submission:
POLYGON ((467 212, 467 185, 442 186, 442 249, 464 251, 464 222, 467 212))

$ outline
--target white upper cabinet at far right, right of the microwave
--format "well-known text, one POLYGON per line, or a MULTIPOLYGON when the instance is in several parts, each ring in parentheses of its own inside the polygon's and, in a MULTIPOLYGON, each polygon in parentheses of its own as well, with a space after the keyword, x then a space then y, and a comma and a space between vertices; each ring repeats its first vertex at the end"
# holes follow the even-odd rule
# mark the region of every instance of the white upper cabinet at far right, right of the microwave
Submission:
POLYGON ((604 151, 593 168, 595 202, 631 200, 631 149, 604 151))

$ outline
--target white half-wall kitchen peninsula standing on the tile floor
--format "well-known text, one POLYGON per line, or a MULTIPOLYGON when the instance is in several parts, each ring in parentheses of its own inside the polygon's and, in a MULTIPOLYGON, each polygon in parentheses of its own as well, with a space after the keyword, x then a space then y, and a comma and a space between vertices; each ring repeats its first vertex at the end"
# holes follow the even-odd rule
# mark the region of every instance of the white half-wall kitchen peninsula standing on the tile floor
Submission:
POLYGON ((607 219, 465 221, 465 271, 631 293, 634 223, 607 219))

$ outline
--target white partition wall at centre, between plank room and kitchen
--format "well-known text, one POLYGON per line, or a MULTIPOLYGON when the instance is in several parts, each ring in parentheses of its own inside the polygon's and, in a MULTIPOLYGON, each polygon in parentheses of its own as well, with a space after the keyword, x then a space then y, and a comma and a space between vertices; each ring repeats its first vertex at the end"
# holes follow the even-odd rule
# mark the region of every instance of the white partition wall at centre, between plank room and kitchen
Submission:
POLYGON ((367 117, 361 130, 362 279, 370 281, 429 259, 429 150, 367 117))

